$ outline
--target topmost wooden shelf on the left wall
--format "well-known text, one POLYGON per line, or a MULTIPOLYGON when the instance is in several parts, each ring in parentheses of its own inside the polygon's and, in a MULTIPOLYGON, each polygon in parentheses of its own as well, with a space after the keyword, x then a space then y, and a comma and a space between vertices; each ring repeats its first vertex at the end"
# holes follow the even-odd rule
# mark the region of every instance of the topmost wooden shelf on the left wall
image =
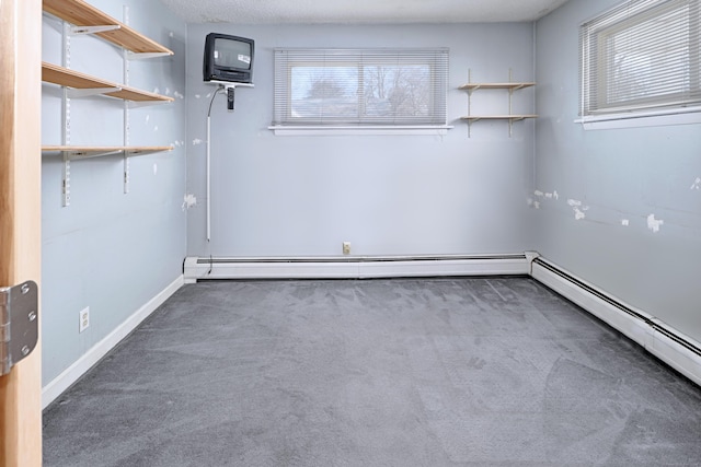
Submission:
POLYGON ((83 0, 43 0, 44 11, 76 26, 116 26, 95 35, 135 54, 173 55, 169 48, 103 13, 83 0))

